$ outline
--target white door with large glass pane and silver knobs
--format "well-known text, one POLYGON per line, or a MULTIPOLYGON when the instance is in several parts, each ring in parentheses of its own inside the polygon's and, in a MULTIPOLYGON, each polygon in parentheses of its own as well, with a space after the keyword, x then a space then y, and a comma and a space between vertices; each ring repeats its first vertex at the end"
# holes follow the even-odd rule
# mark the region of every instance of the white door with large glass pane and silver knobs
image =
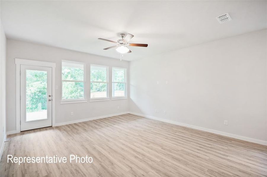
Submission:
POLYGON ((20 65, 20 131, 52 126, 52 68, 20 65))

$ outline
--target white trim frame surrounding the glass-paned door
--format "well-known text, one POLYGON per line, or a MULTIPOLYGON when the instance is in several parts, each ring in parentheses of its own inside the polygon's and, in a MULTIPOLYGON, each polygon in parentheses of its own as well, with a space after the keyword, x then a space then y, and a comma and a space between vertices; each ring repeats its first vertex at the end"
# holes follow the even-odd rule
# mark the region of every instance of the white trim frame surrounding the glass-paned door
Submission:
POLYGON ((16 65, 16 132, 20 132, 20 65, 32 65, 32 66, 43 66, 52 68, 52 127, 55 126, 55 68, 56 63, 37 61, 37 60, 25 60, 15 58, 16 65))

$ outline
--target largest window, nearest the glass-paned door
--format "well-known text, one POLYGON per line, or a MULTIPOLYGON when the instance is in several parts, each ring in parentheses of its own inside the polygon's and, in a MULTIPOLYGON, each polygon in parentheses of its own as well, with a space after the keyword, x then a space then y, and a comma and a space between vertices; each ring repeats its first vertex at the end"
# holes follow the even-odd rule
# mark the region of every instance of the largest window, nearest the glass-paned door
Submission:
POLYGON ((62 60, 62 101, 85 98, 85 63, 62 60))

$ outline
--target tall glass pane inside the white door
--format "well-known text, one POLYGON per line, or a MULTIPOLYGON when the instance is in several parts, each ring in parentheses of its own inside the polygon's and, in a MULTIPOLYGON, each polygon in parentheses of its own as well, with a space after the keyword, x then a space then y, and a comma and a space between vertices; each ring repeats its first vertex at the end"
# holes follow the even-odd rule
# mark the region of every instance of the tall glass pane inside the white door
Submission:
POLYGON ((26 70, 26 121, 47 119, 47 71, 26 70))

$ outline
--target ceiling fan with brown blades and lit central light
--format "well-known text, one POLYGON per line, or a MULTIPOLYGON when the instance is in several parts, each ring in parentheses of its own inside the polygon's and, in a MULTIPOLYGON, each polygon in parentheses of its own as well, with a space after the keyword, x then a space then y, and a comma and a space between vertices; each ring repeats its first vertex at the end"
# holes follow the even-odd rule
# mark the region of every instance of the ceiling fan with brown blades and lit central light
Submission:
POLYGON ((125 36, 125 34, 122 33, 122 34, 120 34, 120 36, 121 36, 121 39, 117 40, 117 42, 111 41, 111 40, 107 40, 107 39, 103 39, 103 38, 98 38, 98 39, 116 43, 116 45, 104 48, 104 50, 117 47, 116 50, 119 53, 131 53, 132 51, 129 49, 128 46, 134 46, 134 47, 147 47, 148 46, 147 44, 128 43, 129 40, 131 40, 134 37, 134 35, 128 34, 128 35, 125 36))

